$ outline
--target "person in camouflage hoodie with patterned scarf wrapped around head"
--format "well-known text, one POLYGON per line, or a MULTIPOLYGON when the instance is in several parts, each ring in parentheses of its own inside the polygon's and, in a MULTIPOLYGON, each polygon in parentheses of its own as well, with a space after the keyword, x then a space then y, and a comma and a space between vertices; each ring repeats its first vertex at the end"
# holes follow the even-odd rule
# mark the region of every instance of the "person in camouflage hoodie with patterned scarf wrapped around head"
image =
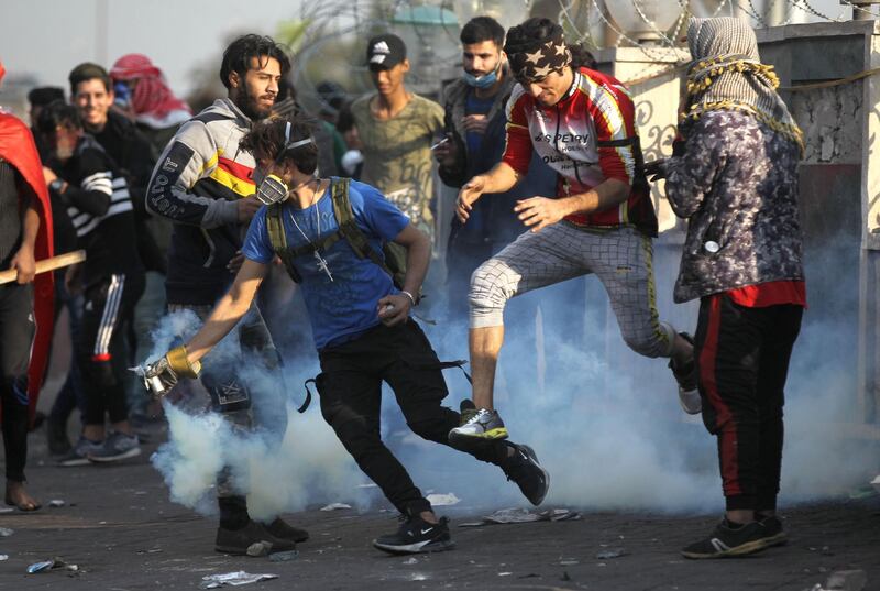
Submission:
POLYGON ((806 305, 798 210, 803 135, 737 19, 692 19, 681 139, 649 172, 688 219, 675 302, 700 298, 703 422, 717 437, 725 519, 688 558, 784 543, 776 516, 783 387, 806 305))

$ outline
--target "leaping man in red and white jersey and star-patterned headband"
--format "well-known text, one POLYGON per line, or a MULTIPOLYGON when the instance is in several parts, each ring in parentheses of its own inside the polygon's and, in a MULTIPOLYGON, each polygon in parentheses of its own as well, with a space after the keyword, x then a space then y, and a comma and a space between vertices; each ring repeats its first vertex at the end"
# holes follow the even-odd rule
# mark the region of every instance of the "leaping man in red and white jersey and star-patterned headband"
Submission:
POLYGON ((557 172, 553 197, 517 203, 529 231, 483 263, 469 294, 473 402, 450 440, 501 439, 507 429, 493 409, 495 365, 504 340, 507 300, 530 289, 595 273, 608 293, 626 343, 642 355, 671 358, 682 406, 700 412, 690 337, 661 322, 654 305, 651 237, 657 216, 641 167, 635 107, 624 86, 583 67, 562 28, 529 19, 507 32, 515 78, 507 102, 502 162, 459 193, 468 220, 484 193, 504 193, 528 172, 532 152, 557 172))

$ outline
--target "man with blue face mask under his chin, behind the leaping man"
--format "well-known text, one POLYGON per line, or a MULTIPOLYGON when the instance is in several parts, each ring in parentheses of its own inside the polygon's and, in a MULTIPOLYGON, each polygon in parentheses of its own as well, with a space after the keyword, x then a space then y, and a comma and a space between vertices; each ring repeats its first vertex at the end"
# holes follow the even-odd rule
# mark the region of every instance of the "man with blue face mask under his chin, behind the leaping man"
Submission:
MULTIPOLYGON (((491 17, 471 19, 461 30, 462 77, 443 92, 448 141, 435 149, 440 178, 450 187, 490 171, 505 145, 504 106, 516 84, 504 53, 504 28, 491 17)), ((468 314, 471 274, 522 232, 517 199, 553 190, 554 173, 535 157, 525 182, 477 204, 468 225, 453 217, 447 249, 447 288, 451 318, 468 314)), ((527 316, 527 315, 526 315, 527 316)))

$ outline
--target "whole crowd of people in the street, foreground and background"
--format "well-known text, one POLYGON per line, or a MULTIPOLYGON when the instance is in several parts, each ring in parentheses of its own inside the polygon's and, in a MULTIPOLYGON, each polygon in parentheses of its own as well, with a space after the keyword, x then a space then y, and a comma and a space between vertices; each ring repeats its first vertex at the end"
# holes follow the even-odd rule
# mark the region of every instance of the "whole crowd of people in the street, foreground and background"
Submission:
MULTIPOLYGON (((130 54, 109 70, 73 68, 69 101, 61 88, 34 89, 31 131, 0 116, 0 265, 16 273, 0 285, 8 503, 40 508, 23 472, 47 342, 40 315, 51 326, 63 307, 74 359, 47 418, 61 466, 141 452, 133 423, 156 407, 128 386, 127 368, 148 347, 135 318, 175 313, 199 327, 143 368, 152 394, 170 403, 205 395, 235 430, 261 429, 278 445, 287 393, 266 384, 283 380, 249 384, 239 370, 256 364, 272 376, 284 365, 256 298, 280 264, 311 322, 321 415, 404 516, 374 546, 450 549, 447 519, 382 440, 383 382, 415 434, 497 466, 539 505, 550 474, 531 447, 512 441, 494 405, 504 311, 515 296, 595 274, 624 341, 668 360, 683 409, 702 412, 717 437, 726 515, 683 555, 784 543, 776 516, 782 402, 806 299, 795 172, 803 139, 754 32, 735 19, 691 21, 673 155, 647 164, 628 90, 559 24, 536 18, 505 32, 477 17, 460 39, 462 76, 441 103, 407 89, 407 47, 385 33, 365 47, 375 92, 346 102, 324 84, 328 108, 310 117, 285 48, 249 34, 223 54, 227 96, 195 114, 146 56, 130 54), (442 404, 449 363, 414 319, 441 231, 435 169, 459 189, 447 313, 469 319, 473 372, 459 412, 442 404), (654 304, 649 183, 658 178, 689 221, 674 297, 701 302, 693 337, 661 321, 654 304), (75 249, 85 262, 37 274, 34 289, 35 260, 75 249), (239 357, 212 355, 232 330, 239 357), (29 359, 32 341, 43 351, 35 346, 29 359), (76 408, 82 427, 72 445, 76 408)), ((308 539, 279 516, 252 519, 229 469, 216 492, 218 551, 308 539)))

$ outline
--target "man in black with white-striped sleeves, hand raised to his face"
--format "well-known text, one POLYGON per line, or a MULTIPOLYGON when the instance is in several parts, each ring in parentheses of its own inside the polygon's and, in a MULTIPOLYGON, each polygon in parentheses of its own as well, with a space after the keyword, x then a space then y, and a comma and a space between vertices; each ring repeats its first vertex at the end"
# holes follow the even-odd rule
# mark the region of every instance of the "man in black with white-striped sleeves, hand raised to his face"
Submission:
POLYGON ((79 442, 61 461, 79 466, 141 452, 128 422, 124 327, 144 289, 144 270, 132 240, 134 214, 128 183, 112 160, 82 130, 77 109, 55 102, 40 114, 38 129, 58 161, 54 190, 67 206, 86 262, 68 283, 85 295, 81 330, 74 343, 86 391, 79 442), (105 438, 105 412, 113 427, 105 438))

